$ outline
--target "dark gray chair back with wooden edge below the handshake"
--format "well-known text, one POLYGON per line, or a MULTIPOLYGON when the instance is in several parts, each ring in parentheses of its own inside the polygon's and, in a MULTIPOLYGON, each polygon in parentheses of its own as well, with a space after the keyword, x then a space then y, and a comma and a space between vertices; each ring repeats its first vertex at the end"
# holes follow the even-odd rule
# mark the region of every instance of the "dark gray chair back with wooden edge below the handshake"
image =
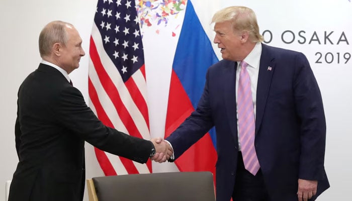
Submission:
POLYGON ((214 201, 211 172, 128 174, 87 179, 90 201, 214 201))

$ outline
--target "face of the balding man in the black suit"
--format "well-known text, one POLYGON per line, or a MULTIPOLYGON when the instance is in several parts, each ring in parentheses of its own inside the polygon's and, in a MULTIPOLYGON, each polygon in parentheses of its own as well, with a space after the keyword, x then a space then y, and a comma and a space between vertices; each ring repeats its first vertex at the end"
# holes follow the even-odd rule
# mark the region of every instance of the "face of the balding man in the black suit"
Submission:
POLYGON ((59 66, 70 73, 78 68, 80 57, 84 56, 85 53, 81 46, 82 39, 77 30, 73 27, 67 27, 66 32, 68 40, 66 45, 62 45, 60 48, 59 66))

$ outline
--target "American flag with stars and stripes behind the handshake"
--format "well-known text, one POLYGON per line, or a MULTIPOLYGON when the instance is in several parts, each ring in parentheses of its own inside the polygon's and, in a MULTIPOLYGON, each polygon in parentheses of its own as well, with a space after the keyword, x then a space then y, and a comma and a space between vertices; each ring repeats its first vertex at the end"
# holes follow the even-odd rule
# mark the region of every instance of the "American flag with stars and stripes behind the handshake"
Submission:
MULTIPOLYGON (((90 40, 90 106, 106 125, 150 139, 143 45, 134 0, 99 0, 90 40)), ((105 175, 150 173, 140 164, 95 148, 105 175)))

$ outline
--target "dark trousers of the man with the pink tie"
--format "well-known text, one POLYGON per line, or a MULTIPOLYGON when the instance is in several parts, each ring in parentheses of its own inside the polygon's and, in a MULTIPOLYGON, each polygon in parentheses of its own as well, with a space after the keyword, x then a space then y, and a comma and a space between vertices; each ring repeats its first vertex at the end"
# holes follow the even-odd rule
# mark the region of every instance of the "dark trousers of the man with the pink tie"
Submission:
POLYGON ((270 201, 261 170, 254 176, 244 168, 241 152, 238 152, 233 201, 270 201))

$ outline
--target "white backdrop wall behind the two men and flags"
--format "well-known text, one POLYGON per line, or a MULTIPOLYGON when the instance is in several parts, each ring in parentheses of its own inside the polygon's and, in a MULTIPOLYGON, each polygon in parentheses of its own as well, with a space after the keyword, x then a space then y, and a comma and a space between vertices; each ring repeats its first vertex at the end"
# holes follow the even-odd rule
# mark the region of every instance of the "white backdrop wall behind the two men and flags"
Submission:
MULTIPOLYGON (((193 0, 192 3, 211 41, 214 35, 209 23, 213 13, 227 6, 243 5, 256 13, 260 31, 265 32, 265 41, 269 45, 301 51, 308 57, 321 89, 327 121, 325 167, 331 187, 318 200, 350 200, 352 151, 348 146, 352 144, 349 135, 352 128, 348 115, 352 112, 349 104, 352 102, 352 3, 348 0, 193 0)), ((70 77, 88 103, 89 39, 96 5, 97 0, 0 1, 0 186, 4 184, 0 187, 0 200, 5 197, 5 182, 12 178, 18 162, 14 137, 17 90, 41 60, 38 52, 39 32, 53 20, 75 25, 83 39, 86 56, 70 77)), ((181 31, 180 28, 177 31, 181 31)), ((158 59, 155 55, 160 55, 148 52, 153 49, 162 53, 165 38, 161 33, 158 35, 159 42, 152 44, 150 41, 155 40, 154 35, 148 29, 143 28, 143 31, 150 131, 152 136, 160 136, 164 133, 173 57, 171 55, 162 67, 160 64, 154 65, 158 59)), ((177 39, 170 41, 171 52, 176 42, 177 39)), ((214 49, 220 58, 216 46, 214 49)), ((93 147, 86 144, 85 148, 86 177, 102 176, 93 147)), ((153 164, 153 169, 174 171, 172 164, 153 164)), ((87 200, 87 196, 84 199, 87 200)))

